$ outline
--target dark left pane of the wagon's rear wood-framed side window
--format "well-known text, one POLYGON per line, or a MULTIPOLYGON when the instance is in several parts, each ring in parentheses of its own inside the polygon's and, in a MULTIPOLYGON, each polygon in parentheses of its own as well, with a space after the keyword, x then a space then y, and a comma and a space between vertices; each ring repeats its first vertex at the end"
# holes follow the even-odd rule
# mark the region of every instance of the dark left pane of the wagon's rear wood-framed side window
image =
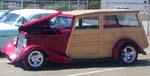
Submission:
POLYGON ((115 15, 107 15, 103 17, 104 28, 118 27, 117 18, 115 15))

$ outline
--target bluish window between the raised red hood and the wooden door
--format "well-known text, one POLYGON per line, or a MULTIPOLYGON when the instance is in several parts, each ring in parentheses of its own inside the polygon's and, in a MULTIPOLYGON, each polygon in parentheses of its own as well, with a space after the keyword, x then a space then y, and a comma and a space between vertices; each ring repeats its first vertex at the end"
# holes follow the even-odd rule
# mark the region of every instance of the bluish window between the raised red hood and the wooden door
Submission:
POLYGON ((62 17, 62 16, 57 16, 56 20, 54 21, 54 24, 52 27, 55 28, 70 28, 72 22, 72 18, 70 17, 62 17))

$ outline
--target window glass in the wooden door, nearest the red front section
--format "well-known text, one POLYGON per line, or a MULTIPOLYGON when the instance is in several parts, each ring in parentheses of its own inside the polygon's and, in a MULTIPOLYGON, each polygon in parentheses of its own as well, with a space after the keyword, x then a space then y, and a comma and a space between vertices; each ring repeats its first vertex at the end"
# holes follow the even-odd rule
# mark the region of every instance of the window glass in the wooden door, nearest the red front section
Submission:
POLYGON ((79 18, 75 26, 76 29, 98 29, 99 17, 90 16, 90 17, 79 18))

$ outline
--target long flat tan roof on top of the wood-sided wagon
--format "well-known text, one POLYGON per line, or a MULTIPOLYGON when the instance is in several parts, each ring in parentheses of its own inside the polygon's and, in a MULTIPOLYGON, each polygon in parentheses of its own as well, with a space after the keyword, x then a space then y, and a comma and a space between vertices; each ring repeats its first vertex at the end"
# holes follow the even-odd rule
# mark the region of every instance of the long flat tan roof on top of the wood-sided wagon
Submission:
POLYGON ((74 10, 65 12, 67 14, 72 14, 75 16, 84 15, 84 14, 91 14, 91 13, 117 13, 117 12, 139 12, 137 10, 130 10, 130 9, 94 9, 94 10, 74 10))

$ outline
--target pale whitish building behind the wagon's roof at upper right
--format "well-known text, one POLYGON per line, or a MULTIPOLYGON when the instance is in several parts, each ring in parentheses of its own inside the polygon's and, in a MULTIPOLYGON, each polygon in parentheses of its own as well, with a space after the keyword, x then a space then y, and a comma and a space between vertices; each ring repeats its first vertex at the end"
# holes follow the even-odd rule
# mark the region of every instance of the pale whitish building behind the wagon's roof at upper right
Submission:
POLYGON ((101 8, 129 8, 147 11, 150 0, 101 0, 101 8))

